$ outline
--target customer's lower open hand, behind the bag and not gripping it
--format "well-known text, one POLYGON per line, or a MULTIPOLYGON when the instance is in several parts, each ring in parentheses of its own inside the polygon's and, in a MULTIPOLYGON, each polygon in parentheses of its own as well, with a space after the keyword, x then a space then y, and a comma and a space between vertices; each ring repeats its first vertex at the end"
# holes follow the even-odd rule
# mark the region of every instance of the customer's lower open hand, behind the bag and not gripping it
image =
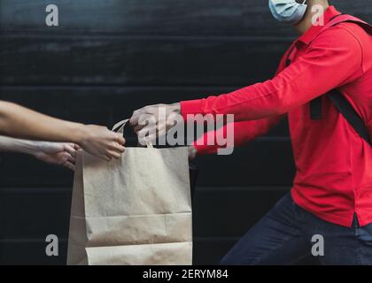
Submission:
POLYGON ((36 142, 33 155, 49 164, 63 165, 74 170, 76 150, 74 143, 36 142))

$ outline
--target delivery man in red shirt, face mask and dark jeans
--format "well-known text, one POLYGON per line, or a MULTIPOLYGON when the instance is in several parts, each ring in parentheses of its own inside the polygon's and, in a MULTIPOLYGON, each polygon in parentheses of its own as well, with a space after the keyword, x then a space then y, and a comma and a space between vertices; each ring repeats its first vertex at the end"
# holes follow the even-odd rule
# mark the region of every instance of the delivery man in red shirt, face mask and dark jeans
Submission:
POLYGON ((130 122, 141 134, 142 115, 157 119, 165 107, 167 117, 156 125, 161 133, 178 113, 185 121, 189 114, 235 114, 235 140, 243 143, 288 114, 297 167, 291 194, 221 264, 294 264, 312 254, 322 264, 372 264, 371 27, 327 0, 270 0, 269 7, 300 34, 274 79, 227 95, 147 106, 130 122), (312 249, 314 239, 323 246, 312 249))

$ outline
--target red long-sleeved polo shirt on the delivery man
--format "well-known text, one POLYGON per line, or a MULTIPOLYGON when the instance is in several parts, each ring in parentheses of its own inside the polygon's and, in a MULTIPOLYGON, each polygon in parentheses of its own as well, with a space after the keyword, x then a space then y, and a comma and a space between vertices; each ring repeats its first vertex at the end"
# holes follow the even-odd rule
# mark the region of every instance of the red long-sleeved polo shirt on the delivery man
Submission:
MULTIPOLYGON (((329 7, 325 23, 337 14, 329 7)), ((372 147, 322 95, 338 88, 372 129, 372 41, 353 23, 321 31, 321 26, 311 27, 293 42, 272 80, 182 102, 182 116, 235 114, 238 145, 266 133, 288 113, 297 168, 291 188, 294 201, 340 226, 352 226, 356 213, 360 226, 366 226, 372 223, 372 147), (292 47, 292 63, 286 67, 292 47), (308 103, 318 96, 323 100, 322 119, 312 120, 308 103)), ((197 149, 207 153, 216 147, 197 149)))

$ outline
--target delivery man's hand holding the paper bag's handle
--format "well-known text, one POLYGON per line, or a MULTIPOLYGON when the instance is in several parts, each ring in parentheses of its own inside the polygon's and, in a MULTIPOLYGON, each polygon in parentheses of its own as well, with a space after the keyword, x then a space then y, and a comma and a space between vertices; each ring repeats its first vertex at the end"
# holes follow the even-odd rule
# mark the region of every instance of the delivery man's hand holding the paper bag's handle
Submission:
POLYGON ((181 104, 156 104, 133 112, 129 124, 133 126, 138 140, 153 142, 160 135, 167 134, 170 128, 182 120, 181 104))

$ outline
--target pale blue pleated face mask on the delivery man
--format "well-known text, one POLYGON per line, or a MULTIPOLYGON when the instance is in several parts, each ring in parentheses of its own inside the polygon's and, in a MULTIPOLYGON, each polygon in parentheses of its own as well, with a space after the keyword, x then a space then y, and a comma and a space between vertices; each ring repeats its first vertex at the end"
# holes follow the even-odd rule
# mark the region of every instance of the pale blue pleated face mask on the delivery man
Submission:
POLYGON ((305 16, 305 3, 306 0, 302 4, 296 0, 268 0, 268 7, 275 19, 296 25, 305 16))

